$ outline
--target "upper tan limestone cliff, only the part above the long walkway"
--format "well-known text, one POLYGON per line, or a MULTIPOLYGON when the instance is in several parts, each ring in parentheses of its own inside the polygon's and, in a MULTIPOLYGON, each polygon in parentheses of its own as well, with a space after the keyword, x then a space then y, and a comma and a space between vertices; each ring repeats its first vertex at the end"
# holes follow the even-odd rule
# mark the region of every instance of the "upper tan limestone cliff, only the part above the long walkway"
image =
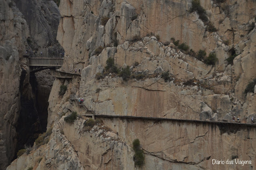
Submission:
POLYGON ((57 39, 66 52, 62 69, 84 68, 80 90, 86 97, 87 107, 99 113, 144 115, 153 109, 157 110, 153 114, 158 116, 175 114, 212 120, 239 116, 244 122, 249 121, 254 115, 255 97, 252 93, 244 94, 244 89, 256 76, 256 20, 252 12, 256 3, 226 1, 219 4, 206 0, 201 5, 217 32, 208 32, 198 14, 189 12, 189 0, 61 1, 57 39), (102 18, 108 20, 105 26, 102 18), (160 39, 148 34, 158 35, 160 39), (128 41, 135 35, 143 38, 135 43, 128 41), (215 52, 216 65, 206 65, 175 49, 172 43, 165 43, 170 42, 171 37, 187 43, 194 51, 215 52), (115 39, 120 44, 118 47, 113 46, 115 39), (95 55, 95 49, 100 46, 105 49, 95 55), (226 61, 231 53, 238 54, 234 65, 226 61), (164 83, 163 79, 152 78, 122 83, 121 78, 110 77, 96 81, 94 77, 104 72, 108 57, 114 57, 118 67, 138 62, 139 65, 130 68, 135 74, 161 75, 163 71, 170 71, 174 81, 164 83), (181 82, 189 79, 197 83, 184 87, 181 82), (102 89, 99 94, 95 93, 97 88, 102 89), (152 96, 157 97, 152 99, 152 96), (150 107, 145 109, 148 105, 150 107))

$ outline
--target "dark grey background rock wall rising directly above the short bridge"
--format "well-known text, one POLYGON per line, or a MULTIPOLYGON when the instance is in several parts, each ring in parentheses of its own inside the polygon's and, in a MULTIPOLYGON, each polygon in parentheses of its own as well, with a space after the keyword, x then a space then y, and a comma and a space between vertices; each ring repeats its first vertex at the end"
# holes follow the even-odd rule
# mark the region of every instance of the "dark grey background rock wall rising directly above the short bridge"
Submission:
MULTIPOLYGON (((60 14, 53 0, 14 0, 29 26, 28 46, 44 55, 59 55, 62 48, 56 40, 60 14)), ((39 54, 39 53, 38 53, 39 54)))

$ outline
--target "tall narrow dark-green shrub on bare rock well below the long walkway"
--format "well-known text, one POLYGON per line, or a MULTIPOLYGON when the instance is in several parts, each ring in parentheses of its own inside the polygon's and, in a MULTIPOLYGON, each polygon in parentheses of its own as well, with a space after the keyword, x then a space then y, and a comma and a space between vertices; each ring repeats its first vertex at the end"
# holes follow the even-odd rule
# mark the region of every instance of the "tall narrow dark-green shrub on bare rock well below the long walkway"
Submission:
POLYGON ((135 165, 142 167, 145 163, 145 161, 144 161, 145 156, 144 156, 143 150, 140 149, 140 140, 135 139, 132 142, 132 146, 133 146, 132 148, 135 152, 134 157, 133 157, 135 165))

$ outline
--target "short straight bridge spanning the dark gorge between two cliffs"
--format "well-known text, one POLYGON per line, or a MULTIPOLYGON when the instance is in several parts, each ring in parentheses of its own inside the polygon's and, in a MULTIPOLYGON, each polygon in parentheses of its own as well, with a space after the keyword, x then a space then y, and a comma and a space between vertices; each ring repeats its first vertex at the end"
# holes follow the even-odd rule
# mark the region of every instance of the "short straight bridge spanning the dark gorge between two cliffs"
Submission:
POLYGON ((30 73, 45 69, 59 69, 63 65, 63 59, 59 56, 51 55, 24 55, 29 59, 30 73))

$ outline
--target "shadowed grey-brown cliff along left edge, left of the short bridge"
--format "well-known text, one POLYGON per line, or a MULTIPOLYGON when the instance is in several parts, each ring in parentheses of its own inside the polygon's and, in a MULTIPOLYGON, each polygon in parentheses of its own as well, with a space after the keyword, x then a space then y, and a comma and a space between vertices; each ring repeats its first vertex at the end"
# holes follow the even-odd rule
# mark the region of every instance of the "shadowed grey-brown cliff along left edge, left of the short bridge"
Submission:
POLYGON ((28 25, 13 5, 10 0, 0 2, 0 169, 5 169, 15 154, 20 76, 22 70, 29 73, 22 57, 28 25))

